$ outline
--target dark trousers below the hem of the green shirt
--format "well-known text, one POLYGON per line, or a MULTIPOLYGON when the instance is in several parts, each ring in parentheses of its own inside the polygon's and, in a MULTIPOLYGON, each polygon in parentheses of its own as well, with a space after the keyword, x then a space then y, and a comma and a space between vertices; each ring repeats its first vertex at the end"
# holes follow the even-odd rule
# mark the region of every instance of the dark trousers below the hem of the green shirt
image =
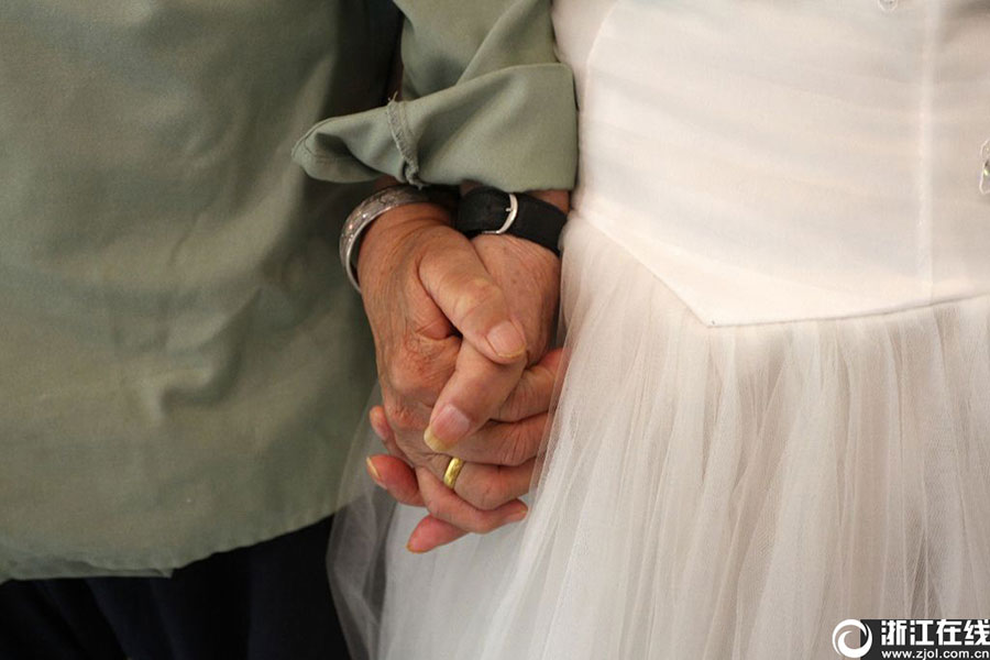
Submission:
POLYGON ((215 554, 172 578, 0 584, 0 659, 345 659, 327 584, 330 525, 215 554))

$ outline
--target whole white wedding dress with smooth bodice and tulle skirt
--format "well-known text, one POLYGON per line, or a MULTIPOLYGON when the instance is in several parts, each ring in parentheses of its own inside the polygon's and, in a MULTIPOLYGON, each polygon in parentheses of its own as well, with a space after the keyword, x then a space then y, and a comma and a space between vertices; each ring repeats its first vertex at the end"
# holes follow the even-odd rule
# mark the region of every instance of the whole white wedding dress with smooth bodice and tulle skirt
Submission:
POLYGON ((403 660, 774 660, 990 615, 990 0, 554 21, 582 165, 530 514, 415 556, 421 510, 359 501, 345 626, 403 660))

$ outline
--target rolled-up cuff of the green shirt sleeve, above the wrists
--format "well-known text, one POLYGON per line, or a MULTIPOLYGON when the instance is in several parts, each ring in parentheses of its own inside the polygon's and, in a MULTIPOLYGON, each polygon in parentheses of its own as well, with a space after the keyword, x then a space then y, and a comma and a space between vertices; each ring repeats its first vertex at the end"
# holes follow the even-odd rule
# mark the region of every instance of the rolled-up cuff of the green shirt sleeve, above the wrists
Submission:
POLYGON ((399 182, 503 190, 571 189, 578 164, 576 106, 562 64, 514 66, 414 100, 327 119, 293 158, 314 178, 399 182))

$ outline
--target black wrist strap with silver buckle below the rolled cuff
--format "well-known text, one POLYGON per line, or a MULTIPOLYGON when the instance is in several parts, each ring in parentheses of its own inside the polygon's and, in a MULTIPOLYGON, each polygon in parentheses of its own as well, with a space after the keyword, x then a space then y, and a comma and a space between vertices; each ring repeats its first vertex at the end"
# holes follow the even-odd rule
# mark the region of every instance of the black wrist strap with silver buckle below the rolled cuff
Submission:
POLYGON ((469 239, 482 233, 519 237, 560 256, 560 232, 566 221, 566 213, 548 201, 481 186, 461 198, 454 227, 469 239))

